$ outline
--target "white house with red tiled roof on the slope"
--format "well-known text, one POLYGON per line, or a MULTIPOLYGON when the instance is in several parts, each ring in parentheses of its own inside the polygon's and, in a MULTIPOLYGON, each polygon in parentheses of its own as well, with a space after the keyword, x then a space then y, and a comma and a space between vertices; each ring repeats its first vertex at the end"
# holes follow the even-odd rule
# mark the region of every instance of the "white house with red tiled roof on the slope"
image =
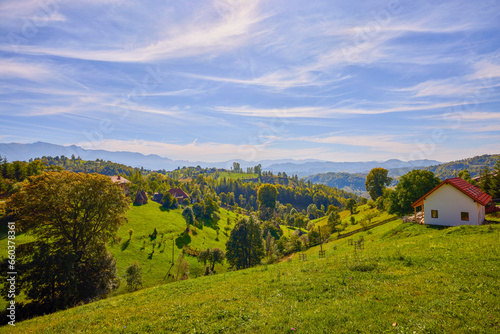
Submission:
POLYGON ((446 179, 412 204, 424 212, 427 225, 480 225, 491 196, 459 177, 446 179))

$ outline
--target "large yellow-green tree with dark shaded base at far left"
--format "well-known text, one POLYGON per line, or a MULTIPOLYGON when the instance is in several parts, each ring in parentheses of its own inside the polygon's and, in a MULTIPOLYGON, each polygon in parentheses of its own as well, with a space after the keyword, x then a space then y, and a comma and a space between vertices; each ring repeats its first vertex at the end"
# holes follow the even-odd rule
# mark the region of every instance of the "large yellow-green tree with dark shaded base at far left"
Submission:
POLYGON ((116 287, 105 245, 125 221, 128 203, 110 178, 45 172, 27 181, 8 208, 16 228, 36 238, 17 259, 20 290, 33 302, 54 310, 116 287))

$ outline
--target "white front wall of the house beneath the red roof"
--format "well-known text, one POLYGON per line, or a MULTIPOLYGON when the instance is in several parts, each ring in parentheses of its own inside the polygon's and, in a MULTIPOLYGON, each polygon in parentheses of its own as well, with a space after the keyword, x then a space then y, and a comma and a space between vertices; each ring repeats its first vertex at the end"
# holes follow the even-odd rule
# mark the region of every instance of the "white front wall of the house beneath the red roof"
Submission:
POLYGON ((484 221, 484 215, 484 206, 449 184, 441 186, 424 200, 427 225, 479 225, 484 221), (431 210, 438 210, 438 218, 432 218, 431 210), (469 221, 462 220, 461 212, 469 213, 469 221))

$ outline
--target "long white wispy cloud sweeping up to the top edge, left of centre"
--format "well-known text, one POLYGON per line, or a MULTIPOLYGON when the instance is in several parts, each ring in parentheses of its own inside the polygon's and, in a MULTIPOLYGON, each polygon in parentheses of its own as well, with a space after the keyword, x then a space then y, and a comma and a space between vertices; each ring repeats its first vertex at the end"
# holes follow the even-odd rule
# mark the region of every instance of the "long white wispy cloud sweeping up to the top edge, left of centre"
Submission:
MULTIPOLYGON (((111 45, 109 48, 99 49, 87 45, 83 49, 22 45, 18 50, 30 55, 52 55, 108 62, 153 62, 232 50, 248 41, 253 36, 252 27, 267 17, 259 14, 259 1, 215 1, 214 4, 219 6, 214 6, 205 13, 206 15, 198 13, 194 21, 189 20, 182 25, 170 26, 163 22, 163 31, 168 32, 166 36, 145 46, 111 45), (220 6, 221 3, 226 5, 220 6)), ((165 34, 164 32, 161 34, 165 34)))

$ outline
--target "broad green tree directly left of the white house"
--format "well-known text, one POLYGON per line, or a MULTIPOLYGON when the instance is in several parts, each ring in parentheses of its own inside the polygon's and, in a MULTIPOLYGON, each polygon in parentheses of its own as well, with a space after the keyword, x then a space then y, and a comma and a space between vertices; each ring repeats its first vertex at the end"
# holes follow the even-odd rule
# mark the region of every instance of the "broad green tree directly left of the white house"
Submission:
POLYGON ((415 169, 401 176, 395 191, 388 194, 389 213, 411 213, 411 205, 440 182, 433 172, 427 170, 415 169))

